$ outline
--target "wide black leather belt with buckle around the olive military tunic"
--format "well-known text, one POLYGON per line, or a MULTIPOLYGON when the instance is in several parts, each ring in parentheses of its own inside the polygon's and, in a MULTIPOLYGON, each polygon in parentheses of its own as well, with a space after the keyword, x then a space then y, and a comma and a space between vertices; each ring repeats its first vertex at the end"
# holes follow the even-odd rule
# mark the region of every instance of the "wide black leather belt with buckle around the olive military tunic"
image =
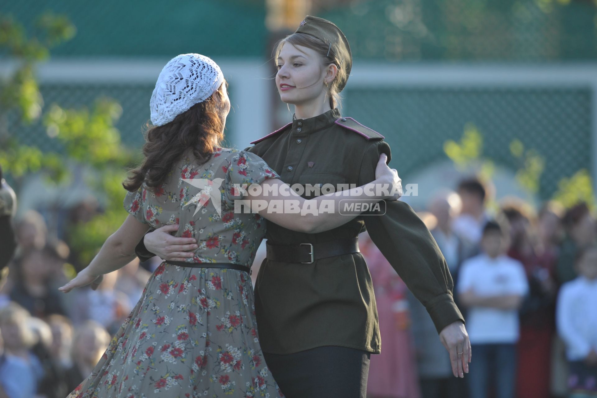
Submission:
POLYGON ((313 261, 321 258, 360 252, 358 237, 321 243, 300 243, 296 246, 272 245, 268 240, 266 249, 267 260, 302 264, 312 264, 313 261))

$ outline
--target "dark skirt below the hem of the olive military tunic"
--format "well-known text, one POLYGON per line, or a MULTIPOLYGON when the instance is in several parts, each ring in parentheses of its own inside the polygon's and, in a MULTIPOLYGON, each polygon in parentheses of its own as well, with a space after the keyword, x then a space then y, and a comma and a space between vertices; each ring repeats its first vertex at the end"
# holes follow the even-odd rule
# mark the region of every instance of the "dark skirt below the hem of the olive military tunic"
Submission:
POLYGON ((365 398, 371 354, 355 348, 325 346, 263 357, 287 398, 365 398))

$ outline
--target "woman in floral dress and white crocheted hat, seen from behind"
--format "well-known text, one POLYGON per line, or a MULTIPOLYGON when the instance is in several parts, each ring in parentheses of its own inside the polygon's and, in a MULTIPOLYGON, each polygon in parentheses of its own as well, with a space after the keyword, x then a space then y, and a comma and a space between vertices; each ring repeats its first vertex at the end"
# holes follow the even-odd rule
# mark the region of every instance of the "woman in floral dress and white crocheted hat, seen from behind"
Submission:
MULTIPOLYGON (((155 127, 147 132, 144 163, 124 183, 130 215, 60 290, 97 288, 101 275, 136 257, 134 248, 150 227, 178 224, 176 236, 197 241, 189 245, 194 257, 187 263, 165 261, 154 271, 100 362, 68 398, 280 397, 261 353, 248 273, 264 237, 263 218, 318 232, 356 214, 235 211, 235 200, 245 196, 268 205, 282 199, 236 184, 267 184, 277 192, 285 184, 259 156, 218 146, 230 102, 220 68, 210 58, 173 58, 159 75, 150 106, 155 127)), ((371 184, 399 184, 384 156, 377 171, 371 184)), ((367 185, 351 198, 396 199, 365 196, 367 185)), ((315 208, 325 199, 336 205, 346 199, 330 194, 305 200, 292 190, 288 195, 315 208)))

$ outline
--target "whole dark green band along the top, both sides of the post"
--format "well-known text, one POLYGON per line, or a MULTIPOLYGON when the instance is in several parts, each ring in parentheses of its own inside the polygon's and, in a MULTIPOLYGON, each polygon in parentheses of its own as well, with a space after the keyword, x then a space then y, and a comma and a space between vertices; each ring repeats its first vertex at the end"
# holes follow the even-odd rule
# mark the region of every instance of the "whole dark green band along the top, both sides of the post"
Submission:
MULTIPOLYGON (((346 33, 356 59, 597 59, 597 6, 590 0, 314 0, 313 7, 313 15, 346 33)), ((56 56, 271 51, 264 0, 20 0, 0 8, 28 29, 44 11, 65 14, 77 27, 74 39, 53 50, 56 56)))

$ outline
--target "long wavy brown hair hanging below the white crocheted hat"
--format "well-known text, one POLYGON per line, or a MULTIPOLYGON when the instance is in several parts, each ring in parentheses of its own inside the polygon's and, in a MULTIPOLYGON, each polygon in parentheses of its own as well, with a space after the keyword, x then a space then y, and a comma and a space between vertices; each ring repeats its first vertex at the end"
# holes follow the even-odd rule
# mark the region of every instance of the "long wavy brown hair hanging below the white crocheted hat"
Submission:
MULTIPOLYGON (((224 84, 227 85, 224 82, 222 86, 224 84)), ((165 183, 187 149, 192 148, 199 164, 211 158, 214 149, 224 140, 224 126, 218 109, 223 96, 222 86, 207 100, 180 113, 173 121, 161 126, 147 124, 144 160, 122 183, 126 190, 135 192, 145 183, 148 190, 155 192, 165 183), (216 95, 218 99, 214 98, 216 95)))

